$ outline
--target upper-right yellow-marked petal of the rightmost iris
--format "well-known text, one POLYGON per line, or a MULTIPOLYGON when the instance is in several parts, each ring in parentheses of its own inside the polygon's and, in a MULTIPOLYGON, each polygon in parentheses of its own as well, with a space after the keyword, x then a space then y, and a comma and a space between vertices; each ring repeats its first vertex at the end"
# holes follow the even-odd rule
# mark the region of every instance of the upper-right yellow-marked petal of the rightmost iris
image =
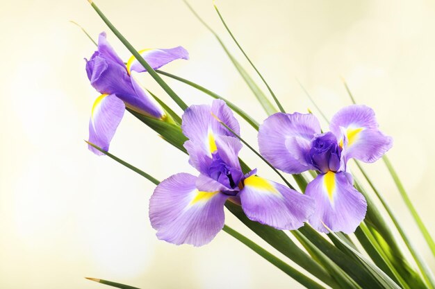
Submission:
POLYGON ((371 163, 393 146, 393 139, 379 130, 375 112, 366 105, 344 107, 332 117, 329 127, 340 139, 346 159, 371 163))

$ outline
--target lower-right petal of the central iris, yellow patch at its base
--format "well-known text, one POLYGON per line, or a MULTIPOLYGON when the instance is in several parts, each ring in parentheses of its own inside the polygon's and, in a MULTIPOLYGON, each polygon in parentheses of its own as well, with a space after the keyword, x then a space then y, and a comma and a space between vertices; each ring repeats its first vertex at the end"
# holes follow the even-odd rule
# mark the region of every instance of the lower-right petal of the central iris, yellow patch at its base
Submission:
POLYGON ((245 179, 239 196, 249 219, 277 229, 302 227, 314 211, 308 196, 256 175, 245 179))

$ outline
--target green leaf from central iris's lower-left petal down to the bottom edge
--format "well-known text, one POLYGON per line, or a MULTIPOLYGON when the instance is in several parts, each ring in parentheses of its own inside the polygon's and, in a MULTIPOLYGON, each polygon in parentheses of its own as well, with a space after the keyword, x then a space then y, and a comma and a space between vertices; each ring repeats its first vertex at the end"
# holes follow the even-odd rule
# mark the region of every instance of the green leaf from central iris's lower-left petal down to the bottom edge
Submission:
POLYGON ((313 281, 310 277, 307 277, 305 274, 302 274, 295 268, 291 267, 281 259, 277 258, 277 256, 274 256, 270 252, 266 251, 262 247, 258 246, 256 243, 252 242, 252 240, 249 240, 242 234, 239 234, 237 231, 234 231, 227 225, 224 226, 224 231, 226 231, 228 234, 239 240, 241 243, 247 245, 247 247, 251 248, 256 252, 258 255, 262 256, 264 259, 268 260, 270 263, 275 265, 277 268, 279 268, 284 273, 288 274, 288 276, 292 277, 299 283, 301 283, 303 286, 309 289, 322 289, 325 288, 321 286, 319 283, 313 281))

